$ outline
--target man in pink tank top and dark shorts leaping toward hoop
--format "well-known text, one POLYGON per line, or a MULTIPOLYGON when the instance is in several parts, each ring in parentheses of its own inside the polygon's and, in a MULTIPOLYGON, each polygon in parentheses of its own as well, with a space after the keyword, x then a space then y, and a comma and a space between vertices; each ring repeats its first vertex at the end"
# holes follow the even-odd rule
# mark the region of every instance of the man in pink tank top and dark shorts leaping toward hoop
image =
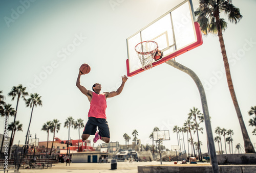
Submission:
POLYGON ((106 121, 106 98, 114 97, 119 95, 124 87, 125 82, 127 81, 128 77, 122 77, 122 84, 116 90, 112 92, 103 92, 100 93, 101 85, 96 83, 93 85, 92 90, 87 90, 84 86, 80 84, 80 77, 83 75, 80 70, 76 81, 76 86, 79 90, 88 97, 90 102, 90 110, 88 112, 88 121, 86 123, 86 127, 84 127, 82 133, 82 140, 87 140, 90 135, 94 135, 93 142, 97 142, 99 139, 104 141, 105 143, 110 142, 110 128, 108 125, 108 121, 106 121), (97 127, 99 132, 97 131, 97 127))

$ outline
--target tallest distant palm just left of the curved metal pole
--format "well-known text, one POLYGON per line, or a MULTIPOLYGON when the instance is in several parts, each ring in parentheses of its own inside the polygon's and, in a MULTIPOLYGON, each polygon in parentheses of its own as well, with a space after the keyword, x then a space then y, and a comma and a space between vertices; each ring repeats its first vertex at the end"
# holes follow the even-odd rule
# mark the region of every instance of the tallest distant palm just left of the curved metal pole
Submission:
POLYGON ((199 134, 198 134, 198 127, 199 127, 199 123, 201 122, 197 122, 197 118, 199 118, 200 120, 202 119, 203 114, 200 112, 200 110, 198 110, 198 108, 193 107, 193 109, 190 109, 190 112, 188 113, 188 117, 193 117, 194 120, 194 127, 196 129, 197 132, 197 140, 198 140, 198 151, 199 151, 199 160, 202 161, 202 153, 201 153, 201 146, 200 146, 200 142, 199 142, 199 134))

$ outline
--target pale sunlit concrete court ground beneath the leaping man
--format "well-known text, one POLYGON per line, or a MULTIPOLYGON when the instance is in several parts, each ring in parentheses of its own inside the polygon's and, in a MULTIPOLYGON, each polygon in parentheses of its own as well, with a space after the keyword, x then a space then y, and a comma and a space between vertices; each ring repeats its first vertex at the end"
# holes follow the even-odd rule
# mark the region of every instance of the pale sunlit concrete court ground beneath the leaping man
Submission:
MULTIPOLYGON (((163 165, 175 165, 174 162, 162 162, 163 165)), ((209 163, 200 163, 205 165, 210 165, 209 163)), ((52 168, 48 169, 19 169, 20 173, 40 173, 40 172, 49 172, 49 173, 61 173, 61 172, 70 172, 70 173, 137 173, 138 166, 146 165, 160 165, 160 162, 117 162, 117 169, 111 169, 111 163, 71 163, 70 166, 66 166, 66 163, 53 164, 52 168)), ((181 161, 178 162, 178 165, 181 165, 181 161)), ((184 164, 183 164, 184 165, 184 164)))

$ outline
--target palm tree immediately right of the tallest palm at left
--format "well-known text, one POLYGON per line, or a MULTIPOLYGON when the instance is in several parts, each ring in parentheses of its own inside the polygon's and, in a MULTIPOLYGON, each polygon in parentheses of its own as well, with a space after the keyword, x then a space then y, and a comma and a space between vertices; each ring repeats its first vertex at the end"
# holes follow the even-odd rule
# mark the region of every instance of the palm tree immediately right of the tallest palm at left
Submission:
POLYGON ((28 98, 28 100, 26 101, 26 106, 27 107, 32 107, 31 110, 31 115, 30 115, 30 120, 29 120, 29 127, 28 127, 28 131, 27 131, 27 135, 26 135, 26 140, 25 140, 25 144, 27 144, 27 139, 28 139, 28 135, 29 135, 29 128, 30 128, 30 123, 32 120, 32 115, 33 115, 33 110, 34 110, 34 106, 37 107, 38 106, 42 106, 42 101, 40 100, 41 96, 39 96, 39 94, 34 93, 34 94, 30 94, 30 97, 28 98))

